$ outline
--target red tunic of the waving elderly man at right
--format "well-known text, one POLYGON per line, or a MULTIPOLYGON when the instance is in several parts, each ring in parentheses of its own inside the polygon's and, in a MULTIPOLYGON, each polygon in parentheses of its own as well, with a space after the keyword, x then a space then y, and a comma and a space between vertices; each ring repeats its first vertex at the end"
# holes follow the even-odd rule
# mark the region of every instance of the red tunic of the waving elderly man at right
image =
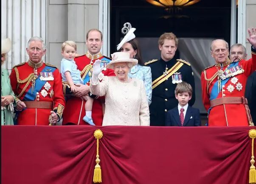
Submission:
MULTIPOLYGON (((242 74, 237 74, 228 79, 225 85, 222 85, 222 91, 217 93, 214 88, 214 83, 217 82, 217 77, 209 84, 207 90, 207 79, 220 69, 220 67, 211 66, 205 69, 201 75, 202 98, 205 109, 210 108, 211 93, 216 92, 217 97, 242 97, 245 96, 245 85, 248 76, 256 69, 256 55, 255 50, 252 49, 252 58, 250 60, 238 61, 238 66, 244 69, 242 74), (206 73, 206 76, 205 74, 206 73)), ((225 70, 228 66, 223 67, 225 70)), ((245 111, 244 104, 222 104, 210 108, 208 112, 208 126, 248 126, 248 118, 245 111)))

